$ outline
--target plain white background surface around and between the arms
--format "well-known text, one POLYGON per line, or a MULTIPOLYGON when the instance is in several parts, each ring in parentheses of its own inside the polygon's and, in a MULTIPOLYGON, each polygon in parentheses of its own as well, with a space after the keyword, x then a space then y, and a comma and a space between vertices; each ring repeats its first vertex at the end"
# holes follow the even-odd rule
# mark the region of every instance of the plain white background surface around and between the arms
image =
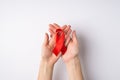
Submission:
MULTIPOLYGON (((120 80, 119 0, 0 0, 0 80, 36 80, 49 23, 81 40, 85 80, 120 80)), ((68 80, 61 59, 53 80, 68 80)))

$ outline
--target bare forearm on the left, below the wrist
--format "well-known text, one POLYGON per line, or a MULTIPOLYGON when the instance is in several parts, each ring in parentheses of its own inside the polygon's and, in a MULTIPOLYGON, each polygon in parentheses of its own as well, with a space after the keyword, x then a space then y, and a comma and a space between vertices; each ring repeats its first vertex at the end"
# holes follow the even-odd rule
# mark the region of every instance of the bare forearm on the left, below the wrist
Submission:
POLYGON ((47 61, 41 60, 38 80, 52 80, 53 66, 47 61))

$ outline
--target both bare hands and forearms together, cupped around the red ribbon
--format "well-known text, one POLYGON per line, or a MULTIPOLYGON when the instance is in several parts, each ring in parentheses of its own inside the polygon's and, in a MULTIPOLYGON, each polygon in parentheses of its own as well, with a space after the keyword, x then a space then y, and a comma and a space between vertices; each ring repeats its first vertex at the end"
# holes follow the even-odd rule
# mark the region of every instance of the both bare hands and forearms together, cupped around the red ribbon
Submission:
POLYGON ((51 33, 50 38, 48 34, 45 34, 45 39, 42 45, 42 57, 40 62, 38 80, 52 80, 54 64, 57 60, 62 57, 64 63, 66 64, 69 80, 83 80, 79 54, 78 39, 76 36, 76 31, 71 30, 70 25, 64 25, 60 27, 58 24, 50 24, 49 32, 51 33), (65 46, 67 46, 67 51, 64 55, 61 52, 58 56, 52 53, 53 46, 55 45, 55 31, 58 28, 62 28, 65 32, 65 46), (72 33, 72 37, 70 34, 72 33))

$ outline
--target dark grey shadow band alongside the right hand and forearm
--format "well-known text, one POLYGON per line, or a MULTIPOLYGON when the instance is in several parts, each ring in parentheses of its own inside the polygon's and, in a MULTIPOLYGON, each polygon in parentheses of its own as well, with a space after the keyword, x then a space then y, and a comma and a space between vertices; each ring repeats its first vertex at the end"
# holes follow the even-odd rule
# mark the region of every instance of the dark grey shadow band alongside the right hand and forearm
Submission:
POLYGON ((89 54, 87 50, 88 49, 87 40, 80 33, 77 33, 77 38, 78 38, 79 45, 80 45, 79 57, 80 57, 80 63, 82 67, 82 73, 83 73, 84 80, 92 80, 91 79, 92 75, 89 73, 88 61, 87 61, 87 55, 89 54))

